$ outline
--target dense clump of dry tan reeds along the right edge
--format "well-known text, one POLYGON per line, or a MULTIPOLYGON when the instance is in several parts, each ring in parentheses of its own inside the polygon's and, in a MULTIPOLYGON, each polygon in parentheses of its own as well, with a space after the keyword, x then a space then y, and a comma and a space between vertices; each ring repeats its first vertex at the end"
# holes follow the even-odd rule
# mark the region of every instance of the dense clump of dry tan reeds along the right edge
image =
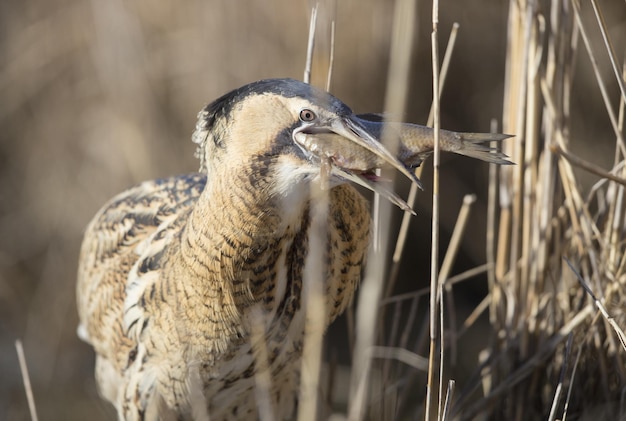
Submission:
MULTIPOLYGON (((545 7, 511 3, 509 12, 503 129, 517 135, 505 151, 519 165, 501 169, 499 236, 491 247, 497 253, 488 296, 490 342, 476 389, 467 388, 457 402, 462 418, 626 416, 626 349, 619 341, 619 326, 626 323, 623 186, 601 179, 585 192, 571 165, 576 57, 594 62, 595 56, 606 57, 606 49, 591 44, 587 33, 594 22, 581 14, 577 1, 545 7), (599 317, 591 290, 613 319, 599 317), (558 393, 563 387, 567 395, 558 393)), ((594 74, 599 86, 607 83, 599 67, 594 74)), ((615 113, 616 105, 623 114, 624 98, 605 100, 607 114, 615 113)), ((623 177, 621 122, 614 129, 611 172, 623 177)))

